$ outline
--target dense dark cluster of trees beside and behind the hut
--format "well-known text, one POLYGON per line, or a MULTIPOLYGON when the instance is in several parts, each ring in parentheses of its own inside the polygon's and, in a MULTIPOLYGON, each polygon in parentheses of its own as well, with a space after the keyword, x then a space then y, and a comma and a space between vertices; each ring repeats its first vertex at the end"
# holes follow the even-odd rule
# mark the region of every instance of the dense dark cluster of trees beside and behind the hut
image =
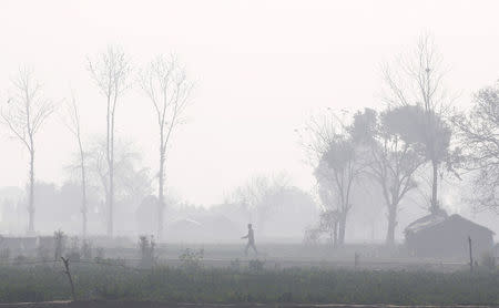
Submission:
POLYGON ((498 208, 499 88, 480 90, 469 112, 456 111, 446 95, 441 57, 428 35, 414 53, 386 66, 384 76, 384 110, 327 111, 307 125, 306 148, 323 206, 309 237, 327 233, 342 245, 354 192, 364 187, 383 196, 388 245, 395 240, 400 203, 415 188, 424 192, 430 215, 446 215, 439 197, 446 177, 460 179, 469 172, 472 205, 498 208))

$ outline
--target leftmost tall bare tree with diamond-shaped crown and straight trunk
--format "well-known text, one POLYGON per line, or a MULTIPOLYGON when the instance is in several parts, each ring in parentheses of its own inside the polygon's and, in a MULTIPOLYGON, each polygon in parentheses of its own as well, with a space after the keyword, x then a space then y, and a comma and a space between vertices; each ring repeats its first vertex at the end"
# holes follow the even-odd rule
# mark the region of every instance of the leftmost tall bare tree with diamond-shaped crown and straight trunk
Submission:
POLYGON ((42 85, 33 78, 31 70, 21 69, 12 84, 12 96, 1 109, 1 116, 13 136, 26 146, 30 154, 28 232, 33 233, 35 137, 45 120, 53 113, 54 105, 43 97, 42 85))

